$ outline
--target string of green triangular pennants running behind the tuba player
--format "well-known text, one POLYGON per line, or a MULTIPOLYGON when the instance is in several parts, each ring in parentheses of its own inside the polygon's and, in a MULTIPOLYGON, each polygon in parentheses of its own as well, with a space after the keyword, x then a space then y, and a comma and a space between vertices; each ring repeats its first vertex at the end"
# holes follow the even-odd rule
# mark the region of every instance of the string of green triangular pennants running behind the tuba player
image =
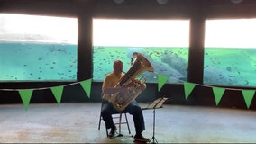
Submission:
MULTIPOLYGON (((162 86, 165 85, 165 83, 168 81, 169 77, 161 75, 161 74, 158 74, 157 77, 158 77, 158 91, 160 91, 162 86)), ((72 84, 69 84, 69 85, 77 85, 77 84, 80 84, 82 86, 82 88, 84 89, 84 91, 87 94, 87 97, 90 98, 92 79, 87 79, 87 80, 72 83, 72 84)), ((32 93, 33 93, 34 90, 50 89, 52 94, 54 95, 57 103, 60 104, 63 88, 65 86, 69 86, 69 85, 58 85, 58 86, 53 86, 53 87, 43 87, 43 88, 35 88, 35 89, 0 89, 0 90, 1 91, 18 91, 21 98, 22 98, 24 109, 27 110, 28 107, 29 107, 29 103, 30 103, 32 93)), ((185 91, 185 98, 187 100, 188 96, 191 94, 191 92, 193 91, 195 86, 199 85, 199 84, 183 82, 183 85, 184 85, 184 91, 185 91)), ((249 109, 250 106, 251 106, 251 101, 252 101, 253 96, 255 94, 255 90, 232 89, 232 88, 215 87, 215 86, 209 86, 209 85, 200 85, 200 86, 206 86, 206 87, 210 87, 210 88, 213 89, 213 93, 215 95, 215 104, 216 105, 219 104, 225 90, 228 89, 228 90, 241 91, 242 95, 243 95, 243 98, 244 98, 244 101, 246 103, 247 109, 249 109)))

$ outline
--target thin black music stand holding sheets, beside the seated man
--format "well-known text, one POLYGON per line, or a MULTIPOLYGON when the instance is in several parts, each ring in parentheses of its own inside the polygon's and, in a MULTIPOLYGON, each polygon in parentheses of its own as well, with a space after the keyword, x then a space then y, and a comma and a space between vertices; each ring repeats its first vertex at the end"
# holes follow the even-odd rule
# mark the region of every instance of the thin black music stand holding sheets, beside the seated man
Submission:
MULTIPOLYGON (((157 139, 155 138, 155 119, 156 119, 156 109, 161 108, 162 104, 168 100, 168 98, 162 96, 161 98, 156 99, 153 103, 149 104, 146 108, 142 108, 142 110, 149 110, 153 109, 153 136, 151 138, 152 143, 158 143, 157 139)), ((150 142, 151 142, 150 140, 150 142)))

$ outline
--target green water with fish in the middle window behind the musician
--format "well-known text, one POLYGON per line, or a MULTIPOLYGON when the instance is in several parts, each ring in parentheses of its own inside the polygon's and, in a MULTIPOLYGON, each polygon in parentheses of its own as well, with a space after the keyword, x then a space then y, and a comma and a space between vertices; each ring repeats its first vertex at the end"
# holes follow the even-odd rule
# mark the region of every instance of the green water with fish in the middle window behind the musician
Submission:
POLYGON ((123 71, 131 67, 133 52, 142 53, 154 67, 154 73, 144 72, 148 83, 157 83, 157 75, 169 76, 169 83, 187 80, 187 48, 160 47, 94 47, 93 77, 95 81, 103 81, 105 75, 113 70, 116 59, 123 61, 123 71))

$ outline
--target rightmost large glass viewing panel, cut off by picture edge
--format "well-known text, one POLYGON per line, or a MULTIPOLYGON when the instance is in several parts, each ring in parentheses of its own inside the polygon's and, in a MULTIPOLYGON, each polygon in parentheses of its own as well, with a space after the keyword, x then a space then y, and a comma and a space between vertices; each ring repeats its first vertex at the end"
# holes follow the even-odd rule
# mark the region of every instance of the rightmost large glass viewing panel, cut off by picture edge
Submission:
POLYGON ((256 19, 206 20, 204 84, 256 86, 256 19))

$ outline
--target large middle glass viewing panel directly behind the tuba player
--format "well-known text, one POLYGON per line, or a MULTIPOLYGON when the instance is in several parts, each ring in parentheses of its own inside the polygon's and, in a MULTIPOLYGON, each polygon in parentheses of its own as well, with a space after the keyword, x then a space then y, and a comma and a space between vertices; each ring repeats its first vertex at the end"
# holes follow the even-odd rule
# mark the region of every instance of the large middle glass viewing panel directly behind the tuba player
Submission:
POLYGON ((139 52, 155 69, 142 73, 147 83, 157 83, 158 74, 168 76, 167 83, 187 81, 188 39, 189 20, 94 19, 93 80, 102 82, 116 59, 127 72, 139 52))

